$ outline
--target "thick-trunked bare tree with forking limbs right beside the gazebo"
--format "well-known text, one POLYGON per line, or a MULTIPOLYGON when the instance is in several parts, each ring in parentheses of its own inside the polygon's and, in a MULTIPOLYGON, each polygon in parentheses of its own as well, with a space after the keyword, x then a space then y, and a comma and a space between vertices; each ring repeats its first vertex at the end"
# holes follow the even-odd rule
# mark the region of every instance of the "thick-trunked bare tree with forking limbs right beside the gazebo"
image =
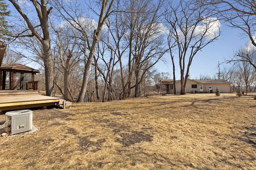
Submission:
MULTIPOLYGON (((49 14, 52 10, 52 7, 48 8, 48 1, 41 0, 31 0, 32 7, 37 13, 38 16, 38 25, 34 25, 28 16, 22 10, 20 4, 15 0, 9 0, 17 12, 22 16, 24 21, 27 24, 28 29, 24 30, 22 33, 18 33, 16 37, 36 37, 38 41, 42 44, 42 57, 44 61, 44 69, 45 69, 45 77, 46 77, 46 95, 53 96, 54 95, 54 63, 52 59, 52 49, 50 43, 50 33, 49 33, 49 14), (36 30, 36 28, 40 29, 40 32, 36 30), (28 32, 30 31, 30 32, 28 32), (25 33, 28 33, 27 35, 25 33)), ((24 8, 25 9, 25 8, 24 8)), ((26 9, 25 9, 26 10, 26 9)))

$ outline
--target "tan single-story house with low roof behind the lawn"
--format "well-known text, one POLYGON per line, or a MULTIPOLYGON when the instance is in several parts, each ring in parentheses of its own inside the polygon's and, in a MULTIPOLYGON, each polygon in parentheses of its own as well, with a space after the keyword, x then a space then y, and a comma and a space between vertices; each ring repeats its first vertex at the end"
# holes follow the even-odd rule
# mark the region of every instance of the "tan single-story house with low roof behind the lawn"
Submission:
MULTIPOLYGON (((174 81, 166 82, 160 80, 160 82, 166 85, 168 94, 174 94, 173 84, 174 81)), ((216 88, 220 89, 220 93, 230 93, 231 82, 221 79, 206 79, 206 80, 191 80, 188 79, 186 83, 186 93, 215 93, 216 88)), ((180 93, 180 80, 175 82, 176 93, 180 93)))

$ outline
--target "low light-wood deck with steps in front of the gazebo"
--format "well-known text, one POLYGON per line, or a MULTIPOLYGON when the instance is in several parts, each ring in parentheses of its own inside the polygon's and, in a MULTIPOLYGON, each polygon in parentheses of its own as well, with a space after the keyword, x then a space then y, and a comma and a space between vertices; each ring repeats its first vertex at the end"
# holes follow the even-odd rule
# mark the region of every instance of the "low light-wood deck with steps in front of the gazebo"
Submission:
POLYGON ((43 96, 39 91, 0 90, 0 111, 44 106, 66 108, 65 102, 60 98, 43 96))

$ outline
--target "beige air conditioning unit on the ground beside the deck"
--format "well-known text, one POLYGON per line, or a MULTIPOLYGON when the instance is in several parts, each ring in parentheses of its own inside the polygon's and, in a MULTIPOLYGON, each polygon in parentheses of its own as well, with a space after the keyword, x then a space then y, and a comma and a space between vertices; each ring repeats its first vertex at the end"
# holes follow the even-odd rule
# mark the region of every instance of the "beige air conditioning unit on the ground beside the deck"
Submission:
POLYGON ((33 128, 33 112, 31 110, 17 110, 9 111, 5 113, 6 122, 8 121, 9 128, 6 132, 10 132, 10 135, 17 133, 31 131, 33 128))

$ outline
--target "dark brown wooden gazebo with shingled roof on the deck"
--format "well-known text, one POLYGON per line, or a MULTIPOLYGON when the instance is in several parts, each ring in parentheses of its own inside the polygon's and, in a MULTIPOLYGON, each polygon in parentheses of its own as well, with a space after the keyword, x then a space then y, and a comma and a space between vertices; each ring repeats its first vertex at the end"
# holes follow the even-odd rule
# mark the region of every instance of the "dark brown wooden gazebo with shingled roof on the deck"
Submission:
POLYGON ((0 66, 0 90, 38 90, 36 73, 39 71, 22 64, 0 66), (27 80, 24 79, 24 74, 27 80), (28 77, 30 74, 31 78, 28 77))

